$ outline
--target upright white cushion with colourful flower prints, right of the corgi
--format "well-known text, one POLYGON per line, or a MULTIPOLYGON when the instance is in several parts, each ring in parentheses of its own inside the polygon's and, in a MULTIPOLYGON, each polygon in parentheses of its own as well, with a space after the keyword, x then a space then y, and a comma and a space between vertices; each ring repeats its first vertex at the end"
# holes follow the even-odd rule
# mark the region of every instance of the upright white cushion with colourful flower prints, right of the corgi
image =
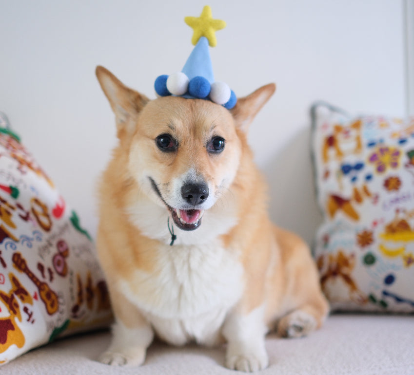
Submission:
POLYGON ((333 310, 414 311, 414 118, 313 109, 315 242, 333 310))

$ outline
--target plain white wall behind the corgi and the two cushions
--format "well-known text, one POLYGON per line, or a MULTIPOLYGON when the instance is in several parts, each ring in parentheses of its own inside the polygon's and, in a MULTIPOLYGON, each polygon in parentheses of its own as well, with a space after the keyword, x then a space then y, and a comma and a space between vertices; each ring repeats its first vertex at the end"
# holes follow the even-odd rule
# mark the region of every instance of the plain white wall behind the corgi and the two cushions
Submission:
MULTIPOLYGON (((325 99, 353 113, 403 115, 402 0, 208 2, 227 28, 211 50, 237 95, 276 82, 250 139, 270 183, 271 215, 308 242, 320 220, 308 110, 325 99)), ((192 51, 184 16, 204 1, 0 0, 0 110, 95 234, 94 184, 114 146, 114 116, 95 66, 155 97, 160 74, 192 51)))

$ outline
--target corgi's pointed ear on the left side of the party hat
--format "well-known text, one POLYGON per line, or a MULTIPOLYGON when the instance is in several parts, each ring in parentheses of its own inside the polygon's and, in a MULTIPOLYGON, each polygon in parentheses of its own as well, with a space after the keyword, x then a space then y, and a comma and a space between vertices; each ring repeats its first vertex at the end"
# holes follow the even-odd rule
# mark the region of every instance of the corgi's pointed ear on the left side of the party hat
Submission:
POLYGON ((100 87, 109 100, 117 120, 118 137, 135 129, 135 119, 149 99, 126 87, 115 75, 103 66, 97 66, 96 75, 100 87))

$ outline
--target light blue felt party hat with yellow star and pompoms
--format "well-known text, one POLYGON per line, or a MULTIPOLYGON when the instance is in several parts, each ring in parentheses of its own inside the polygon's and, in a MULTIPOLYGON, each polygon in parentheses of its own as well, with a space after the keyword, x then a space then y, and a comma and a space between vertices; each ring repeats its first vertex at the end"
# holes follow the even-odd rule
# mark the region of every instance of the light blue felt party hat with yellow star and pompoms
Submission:
POLYGON ((211 100, 227 109, 237 103, 237 97, 225 82, 215 81, 209 46, 217 44, 216 31, 224 29, 226 22, 213 19, 210 6, 206 5, 200 17, 185 17, 185 23, 193 28, 192 43, 195 45, 181 72, 159 75, 154 88, 159 96, 180 96, 211 100))

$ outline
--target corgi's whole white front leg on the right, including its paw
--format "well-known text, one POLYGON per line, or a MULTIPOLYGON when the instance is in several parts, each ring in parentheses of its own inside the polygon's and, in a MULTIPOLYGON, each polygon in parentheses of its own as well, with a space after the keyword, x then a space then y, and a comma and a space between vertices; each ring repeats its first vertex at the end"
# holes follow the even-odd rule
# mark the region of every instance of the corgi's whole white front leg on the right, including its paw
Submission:
POLYGON ((237 310, 229 314, 223 326, 227 339, 226 367, 232 370, 255 372, 269 364, 265 347, 267 327, 263 319, 263 306, 247 315, 237 310))

